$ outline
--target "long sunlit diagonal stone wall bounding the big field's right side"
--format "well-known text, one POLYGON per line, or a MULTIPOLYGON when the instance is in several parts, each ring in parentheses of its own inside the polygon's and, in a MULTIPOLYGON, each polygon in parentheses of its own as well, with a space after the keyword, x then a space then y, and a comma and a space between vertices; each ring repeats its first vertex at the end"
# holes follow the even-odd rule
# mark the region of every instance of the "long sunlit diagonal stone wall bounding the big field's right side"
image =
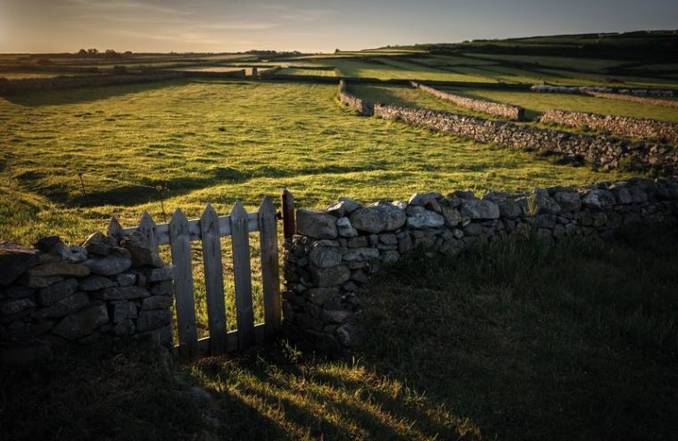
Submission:
POLYGON ((492 121, 455 115, 445 111, 375 104, 375 115, 399 119, 407 124, 428 127, 479 143, 502 147, 533 148, 571 158, 584 159, 604 168, 620 163, 642 169, 656 168, 666 174, 678 169, 678 151, 664 143, 626 141, 609 136, 581 135, 559 130, 526 127, 508 121, 492 121))

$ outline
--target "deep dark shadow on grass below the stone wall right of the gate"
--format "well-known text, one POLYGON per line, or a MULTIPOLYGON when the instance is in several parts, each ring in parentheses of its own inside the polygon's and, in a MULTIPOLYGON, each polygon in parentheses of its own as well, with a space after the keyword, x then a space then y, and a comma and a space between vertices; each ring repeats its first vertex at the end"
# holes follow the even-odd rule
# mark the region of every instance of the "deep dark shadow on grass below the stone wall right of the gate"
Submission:
POLYGON ((357 354, 486 438, 672 437, 677 244, 508 241, 403 261, 365 297, 357 354))

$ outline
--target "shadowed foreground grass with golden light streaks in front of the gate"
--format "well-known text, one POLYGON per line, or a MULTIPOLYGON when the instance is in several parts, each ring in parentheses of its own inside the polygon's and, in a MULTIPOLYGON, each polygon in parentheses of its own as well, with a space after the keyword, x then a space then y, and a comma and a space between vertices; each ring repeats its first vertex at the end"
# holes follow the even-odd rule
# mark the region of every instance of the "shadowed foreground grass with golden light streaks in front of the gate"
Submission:
POLYGON ((141 348, 60 357, 2 375, 0 437, 671 438, 677 245, 671 232, 413 257, 377 276, 365 340, 338 360, 284 343, 183 368, 141 348), (202 410, 191 385, 211 393, 202 410))

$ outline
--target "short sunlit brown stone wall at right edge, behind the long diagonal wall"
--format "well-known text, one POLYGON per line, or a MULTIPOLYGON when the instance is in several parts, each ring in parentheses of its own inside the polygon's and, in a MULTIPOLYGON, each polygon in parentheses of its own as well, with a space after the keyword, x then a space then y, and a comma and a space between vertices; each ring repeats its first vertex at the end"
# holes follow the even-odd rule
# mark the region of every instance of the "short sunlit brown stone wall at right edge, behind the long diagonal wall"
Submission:
POLYGON ((581 111, 549 110, 542 115, 542 123, 556 123, 571 127, 591 127, 611 135, 631 138, 657 139, 678 144, 678 124, 649 118, 631 118, 599 115, 581 111))

